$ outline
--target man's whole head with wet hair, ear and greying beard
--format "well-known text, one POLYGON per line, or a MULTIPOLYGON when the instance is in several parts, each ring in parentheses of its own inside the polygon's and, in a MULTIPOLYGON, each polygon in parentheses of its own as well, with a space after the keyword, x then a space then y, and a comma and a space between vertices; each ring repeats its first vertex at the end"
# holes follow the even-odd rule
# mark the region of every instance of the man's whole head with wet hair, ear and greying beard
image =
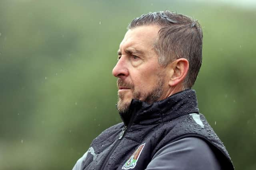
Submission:
POLYGON ((191 88, 202 63, 202 30, 191 18, 154 12, 135 18, 118 49, 118 110, 132 98, 153 103, 191 88))

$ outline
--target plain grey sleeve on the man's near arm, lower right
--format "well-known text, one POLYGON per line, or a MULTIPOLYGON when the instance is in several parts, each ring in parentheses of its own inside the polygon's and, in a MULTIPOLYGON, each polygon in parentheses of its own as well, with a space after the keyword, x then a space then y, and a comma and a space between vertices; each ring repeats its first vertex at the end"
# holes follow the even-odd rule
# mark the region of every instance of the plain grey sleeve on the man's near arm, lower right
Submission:
POLYGON ((146 170, 221 170, 220 162, 202 139, 186 137, 164 146, 146 170))

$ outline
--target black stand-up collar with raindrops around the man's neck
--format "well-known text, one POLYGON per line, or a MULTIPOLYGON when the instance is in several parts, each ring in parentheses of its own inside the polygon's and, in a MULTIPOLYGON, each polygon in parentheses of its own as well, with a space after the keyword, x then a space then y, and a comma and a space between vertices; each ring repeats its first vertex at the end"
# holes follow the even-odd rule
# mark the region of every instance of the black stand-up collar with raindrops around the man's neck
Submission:
POLYGON ((196 91, 191 89, 178 92, 153 104, 132 99, 128 112, 119 114, 124 125, 127 126, 130 123, 143 125, 164 123, 190 113, 199 113, 196 91))

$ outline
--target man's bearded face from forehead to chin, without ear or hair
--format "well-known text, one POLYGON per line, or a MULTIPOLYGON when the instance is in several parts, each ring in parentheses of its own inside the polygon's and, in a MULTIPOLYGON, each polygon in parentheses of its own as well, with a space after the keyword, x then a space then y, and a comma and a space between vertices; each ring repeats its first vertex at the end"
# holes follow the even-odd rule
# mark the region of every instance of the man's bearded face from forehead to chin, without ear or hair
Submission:
POLYGON ((159 29, 156 25, 129 29, 120 43, 118 62, 112 70, 118 78, 119 112, 126 112, 132 99, 151 104, 166 97, 166 71, 153 46, 159 29))

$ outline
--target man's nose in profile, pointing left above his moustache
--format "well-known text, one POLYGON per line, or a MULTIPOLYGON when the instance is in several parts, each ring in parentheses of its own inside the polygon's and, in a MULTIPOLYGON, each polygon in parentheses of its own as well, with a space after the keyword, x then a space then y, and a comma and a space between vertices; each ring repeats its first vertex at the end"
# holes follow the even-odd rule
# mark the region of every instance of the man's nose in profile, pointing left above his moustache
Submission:
POLYGON ((125 78, 129 75, 127 66, 126 66, 126 59, 125 57, 121 57, 118 62, 116 63, 116 66, 114 66, 112 70, 112 74, 115 77, 118 78, 125 78))

